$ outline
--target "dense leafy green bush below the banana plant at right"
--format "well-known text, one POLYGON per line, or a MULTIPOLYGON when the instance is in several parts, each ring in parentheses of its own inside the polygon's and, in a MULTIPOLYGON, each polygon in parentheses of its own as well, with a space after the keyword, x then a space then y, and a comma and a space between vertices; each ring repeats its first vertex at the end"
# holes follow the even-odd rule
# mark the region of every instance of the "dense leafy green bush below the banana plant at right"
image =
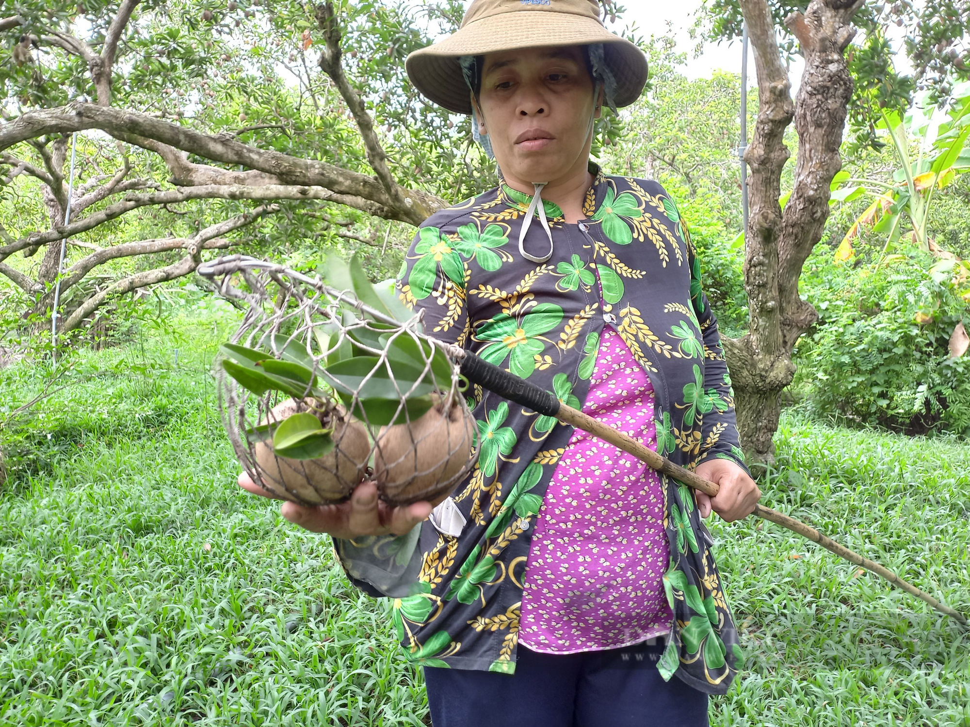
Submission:
POLYGON ((822 320, 798 349, 813 410, 856 426, 970 435, 970 361, 947 346, 966 303, 927 271, 932 258, 911 246, 910 257, 847 269, 820 247, 803 282, 822 320))

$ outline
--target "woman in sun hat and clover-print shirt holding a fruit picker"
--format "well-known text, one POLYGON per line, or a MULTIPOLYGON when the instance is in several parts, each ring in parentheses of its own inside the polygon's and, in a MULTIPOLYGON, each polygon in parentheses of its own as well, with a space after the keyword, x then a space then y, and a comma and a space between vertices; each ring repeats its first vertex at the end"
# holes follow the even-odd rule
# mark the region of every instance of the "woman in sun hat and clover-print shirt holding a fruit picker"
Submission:
POLYGON ((760 491, 676 205, 657 182, 589 162, 601 104, 635 101, 646 60, 603 28, 595 0, 475 0, 407 71, 473 115, 501 184, 422 225, 402 300, 436 337, 721 490, 694 493, 475 388, 481 454, 434 513, 387 512, 372 483, 344 505, 283 513, 330 532, 355 585, 397 599, 436 727, 707 724, 738 651, 700 518, 743 518, 760 491))

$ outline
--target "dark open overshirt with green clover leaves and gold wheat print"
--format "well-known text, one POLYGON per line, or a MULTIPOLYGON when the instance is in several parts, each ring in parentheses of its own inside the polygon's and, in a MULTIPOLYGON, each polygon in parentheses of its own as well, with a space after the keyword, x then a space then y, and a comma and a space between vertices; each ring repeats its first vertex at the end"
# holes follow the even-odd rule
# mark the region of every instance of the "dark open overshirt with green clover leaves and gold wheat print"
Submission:
MULTIPOLYGON (((688 468, 714 457, 744 466, 717 323, 677 206, 656 181, 591 171, 585 222, 566 224, 557 205, 543 203, 554 241, 545 263, 519 254, 532 198, 507 185, 436 212, 407 252, 402 300, 422 312, 430 335, 579 406, 609 327, 650 377, 658 451, 688 468)), ((540 225, 526 246, 548 249, 540 225)), ((400 538, 335 548, 355 585, 395 599, 415 663, 513 673, 533 525, 573 431, 481 387, 468 395, 481 448, 453 494, 467 521, 461 534, 425 522, 400 538)), ((740 649, 713 541, 692 490, 662 481, 673 621, 658 669, 723 694, 740 649)))

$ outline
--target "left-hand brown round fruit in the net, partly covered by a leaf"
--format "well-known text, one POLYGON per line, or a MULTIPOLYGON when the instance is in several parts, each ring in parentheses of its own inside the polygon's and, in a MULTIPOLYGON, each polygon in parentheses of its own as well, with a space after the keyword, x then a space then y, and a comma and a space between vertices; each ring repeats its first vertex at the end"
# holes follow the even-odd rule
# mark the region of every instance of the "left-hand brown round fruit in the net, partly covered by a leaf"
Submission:
MULTIPOLYGON (((310 411, 304 403, 286 399, 273 408, 260 424, 282 422, 291 414, 310 411)), ((367 429, 359 422, 345 418, 343 411, 312 412, 324 427, 334 427, 337 446, 316 459, 276 457, 272 442, 257 442, 252 450, 263 484, 287 500, 311 505, 326 505, 345 500, 364 479, 371 442, 367 429)))

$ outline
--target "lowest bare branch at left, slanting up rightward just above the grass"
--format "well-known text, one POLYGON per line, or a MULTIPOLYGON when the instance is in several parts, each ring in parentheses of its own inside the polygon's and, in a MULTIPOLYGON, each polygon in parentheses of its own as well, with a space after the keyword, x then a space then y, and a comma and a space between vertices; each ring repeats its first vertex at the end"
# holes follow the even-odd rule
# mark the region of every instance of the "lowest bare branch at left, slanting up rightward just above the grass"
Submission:
POLYGON ((168 280, 175 280, 176 278, 188 275, 202 265, 201 253, 203 249, 224 249, 234 244, 232 241, 226 240, 219 236, 225 235, 232 230, 237 230, 245 225, 249 225, 260 217, 263 217, 266 214, 271 214, 277 210, 278 207, 276 205, 260 206, 254 209, 252 212, 246 212, 245 214, 224 220, 223 222, 216 225, 211 225, 205 230, 200 231, 195 237, 188 241, 186 245, 187 254, 184 258, 179 260, 178 263, 165 268, 138 272, 134 275, 129 275, 126 278, 114 282, 112 285, 105 288, 105 290, 97 293, 87 300, 84 300, 77 310, 71 313, 68 319, 64 322, 63 330, 67 332, 78 328, 87 316, 89 316, 101 305, 103 305, 105 301, 111 298, 124 295, 125 293, 130 293, 137 288, 144 288, 146 285, 164 283, 168 280))

